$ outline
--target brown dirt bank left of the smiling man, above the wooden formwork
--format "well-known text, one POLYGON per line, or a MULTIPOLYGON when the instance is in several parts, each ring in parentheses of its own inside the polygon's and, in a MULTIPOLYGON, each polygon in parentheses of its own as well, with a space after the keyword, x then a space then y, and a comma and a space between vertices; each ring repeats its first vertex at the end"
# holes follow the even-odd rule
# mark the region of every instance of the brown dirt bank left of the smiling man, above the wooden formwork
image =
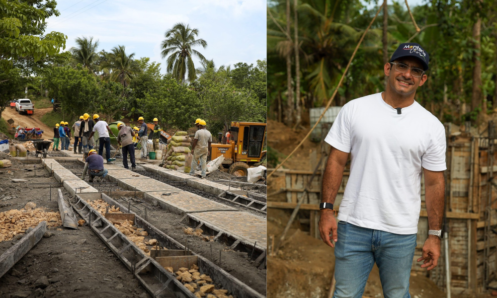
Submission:
MULTIPOLYGON (((285 126, 281 122, 267 120, 267 143, 272 149, 284 154, 279 158, 279 162, 283 161, 286 155, 290 154, 297 145, 302 141, 310 128, 305 130, 293 130, 285 126)), ((311 169, 311 152, 317 150, 317 158, 320 157, 320 144, 313 143, 307 139, 302 147, 300 147, 284 164, 283 168, 295 170, 314 170, 311 169)))

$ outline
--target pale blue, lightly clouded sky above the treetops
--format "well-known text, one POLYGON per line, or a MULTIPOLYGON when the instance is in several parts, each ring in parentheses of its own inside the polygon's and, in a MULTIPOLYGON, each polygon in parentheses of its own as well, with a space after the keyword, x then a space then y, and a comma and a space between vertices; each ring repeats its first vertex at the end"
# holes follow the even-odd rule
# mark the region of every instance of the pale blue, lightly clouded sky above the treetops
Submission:
MULTIPOLYGON (((68 36, 66 50, 77 37, 99 41, 98 50, 109 52, 118 45, 136 58, 149 57, 161 63, 164 33, 183 22, 199 29, 197 38, 207 47, 196 47, 216 67, 238 62, 256 64, 266 58, 265 0, 58 0, 60 16, 47 19, 46 33, 58 31, 68 36)), ((198 60, 195 67, 199 67, 198 60)))

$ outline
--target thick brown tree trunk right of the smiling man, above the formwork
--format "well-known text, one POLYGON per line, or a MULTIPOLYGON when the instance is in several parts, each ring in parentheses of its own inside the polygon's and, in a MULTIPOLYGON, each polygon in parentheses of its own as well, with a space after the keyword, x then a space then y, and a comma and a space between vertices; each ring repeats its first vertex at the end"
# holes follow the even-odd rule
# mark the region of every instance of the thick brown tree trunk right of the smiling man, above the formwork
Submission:
MULTIPOLYGON (((478 1, 480 2, 480 1, 478 1)), ((479 5, 479 8, 481 6, 479 5)), ((471 95, 471 109, 474 111, 482 104, 482 63, 480 61, 480 41, 482 29, 482 18, 477 14, 477 20, 473 25, 473 40, 475 40, 474 49, 475 55, 473 56, 473 92, 471 95)), ((483 108, 483 107, 482 107, 483 108)), ((478 121, 477 121, 478 122, 478 121)))

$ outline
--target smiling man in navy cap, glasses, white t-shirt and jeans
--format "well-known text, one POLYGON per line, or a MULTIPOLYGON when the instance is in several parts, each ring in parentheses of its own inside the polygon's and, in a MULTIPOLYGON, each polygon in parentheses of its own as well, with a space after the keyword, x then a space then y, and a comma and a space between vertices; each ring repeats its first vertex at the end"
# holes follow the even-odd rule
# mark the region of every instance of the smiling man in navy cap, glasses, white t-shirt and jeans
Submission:
POLYGON ((385 297, 410 297, 423 173, 429 231, 417 261, 424 261, 421 267, 427 270, 438 264, 445 129, 414 100, 416 89, 427 80, 428 62, 420 45, 401 44, 384 66, 385 92, 345 104, 325 139, 331 153, 323 176, 319 229, 323 241, 335 246, 334 298, 361 297, 374 263, 385 297), (350 176, 337 224, 332 204, 349 152, 350 176))

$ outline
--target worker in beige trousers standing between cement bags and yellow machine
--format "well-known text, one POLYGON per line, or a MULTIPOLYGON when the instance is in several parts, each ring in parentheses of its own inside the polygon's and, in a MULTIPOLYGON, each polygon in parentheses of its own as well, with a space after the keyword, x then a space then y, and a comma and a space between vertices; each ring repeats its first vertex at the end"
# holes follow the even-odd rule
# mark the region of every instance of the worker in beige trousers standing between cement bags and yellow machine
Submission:
POLYGON ((211 151, 212 136, 211 133, 205 129, 205 121, 200 120, 199 129, 195 133, 193 138, 193 145, 191 146, 191 151, 193 153, 193 159, 191 161, 190 175, 195 174, 195 169, 197 168, 197 163, 200 160, 200 168, 202 169, 202 178, 205 178, 207 171, 207 156, 211 151))

